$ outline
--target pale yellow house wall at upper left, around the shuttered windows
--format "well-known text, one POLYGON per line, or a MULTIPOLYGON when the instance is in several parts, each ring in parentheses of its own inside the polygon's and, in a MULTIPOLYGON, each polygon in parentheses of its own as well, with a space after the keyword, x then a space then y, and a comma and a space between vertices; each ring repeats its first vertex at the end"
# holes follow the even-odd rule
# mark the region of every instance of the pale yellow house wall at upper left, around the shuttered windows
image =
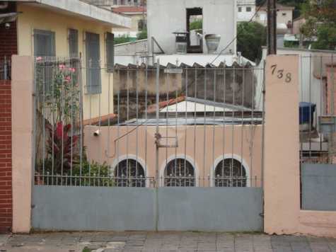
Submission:
MULTIPOLYGON (((18 11, 22 14, 18 18, 18 55, 30 56, 34 55, 33 30, 50 30, 55 33, 56 55, 57 57, 69 57, 68 29, 73 28, 79 30, 79 54, 85 59, 85 42, 84 33, 97 33, 100 35, 100 67, 101 74, 101 93, 95 95, 87 95, 84 87, 83 94, 83 118, 95 118, 99 115, 108 114, 108 98, 112 98, 112 74, 105 69, 106 53, 105 53, 105 33, 112 32, 109 25, 95 21, 87 21, 76 16, 50 11, 47 8, 39 6, 28 6, 26 4, 18 4, 18 11), (110 89, 109 89, 110 86, 110 89), (110 90, 110 95, 108 91, 110 90)), ((86 85, 85 60, 83 62, 83 85, 86 85)), ((112 111, 112 103, 110 110, 112 111)))

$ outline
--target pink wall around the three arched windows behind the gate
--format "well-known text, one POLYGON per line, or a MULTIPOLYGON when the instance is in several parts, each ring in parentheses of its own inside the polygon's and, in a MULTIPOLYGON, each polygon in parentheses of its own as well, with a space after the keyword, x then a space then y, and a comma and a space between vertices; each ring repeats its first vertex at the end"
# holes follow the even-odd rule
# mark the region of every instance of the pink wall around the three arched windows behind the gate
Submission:
MULTIPOLYGON (((119 135, 131 132, 133 127, 119 127, 119 135)), ((97 127, 88 126, 84 130, 84 145, 91 161, 99 163, 107 162, 114 168, 122 159, 138 159, 143 166, 146 166, 148 177, 156 176, 155 154, 156 145, 154 135, 155 127, 142 125, 138 130, 132 131, 127 137, 120 139, 119 147, 114 144, 117 139, 117 126, 97 127), (100 130, 100 136, 94 137, 93 132, 100 130), (137 137, 138 135, 138 137, 137 137), (147 139, 147 140, 146 140, 147 139), (145 144, 147 141, 147 149, 145 144), (127 147, 128 142, 128 147, 127 147), (137 148, 138 146, 138 148, 137 148), (138 152, 137 152, 138 151, 138 152)), ((162 137, 174 137, 175 127, 161 126, 159 128, 162 137), (168 134, 167 134, 168 132, 168 134)), ((199 177, 199 186, 211 185, 214 166, 223 159, 223 156, 243 161, 250 178, 250 186, 260 186, 261 183, 261 126, 230 125, 205 127, 204 126, 178 126, 178 148, 161 148, 159 150, 159 171, 160 177, 166 163, 171 159, 187 156, 187 160, 195 166, 196 176, 199 177), (224 134, 223 134, 224 132, 224 134), (243 139, 242 139, 243 136, 243 139), (243 141, 243 142, 242 142, 243 141), (185 142, 187 143, 185 145, 185 142), (223 142, 225 144, 223 144, 223 142), (205 155, 204 155, 205 149, 205 155), (175 153, 176 151, 176 153, 175 153), (205 165, 204 165, 205 164, 205 165)), ((161 140, 163 144, 166 139, 161 140)), ((172 144, 172 139, 168 144, 172 144)), ((144 167, 145 168, 145 167, 144 167)))

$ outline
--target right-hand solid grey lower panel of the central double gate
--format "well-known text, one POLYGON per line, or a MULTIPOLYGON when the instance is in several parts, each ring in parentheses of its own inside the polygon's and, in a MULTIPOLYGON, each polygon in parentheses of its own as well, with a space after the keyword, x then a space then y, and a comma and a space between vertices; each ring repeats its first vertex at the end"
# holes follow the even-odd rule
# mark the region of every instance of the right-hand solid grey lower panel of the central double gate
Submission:
POLYGON ((158 230, 262 231, 261 188, 158 188, 158 230))

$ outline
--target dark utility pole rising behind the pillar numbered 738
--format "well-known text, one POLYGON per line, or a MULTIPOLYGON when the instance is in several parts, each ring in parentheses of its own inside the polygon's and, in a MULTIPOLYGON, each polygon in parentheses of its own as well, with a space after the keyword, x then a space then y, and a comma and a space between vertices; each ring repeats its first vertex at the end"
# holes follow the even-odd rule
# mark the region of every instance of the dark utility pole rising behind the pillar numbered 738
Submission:
POLYGON ((277 54, 277 0, 267 0, 267 54, 277 54))

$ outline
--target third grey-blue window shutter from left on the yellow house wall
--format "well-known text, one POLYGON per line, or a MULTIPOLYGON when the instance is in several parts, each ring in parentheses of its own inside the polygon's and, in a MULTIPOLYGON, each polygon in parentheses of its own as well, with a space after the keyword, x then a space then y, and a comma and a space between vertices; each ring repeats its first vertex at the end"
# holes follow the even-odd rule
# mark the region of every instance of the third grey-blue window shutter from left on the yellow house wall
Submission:
POLYGON ((99 34, 86 33, 86 91, 101 93, 99 34))

